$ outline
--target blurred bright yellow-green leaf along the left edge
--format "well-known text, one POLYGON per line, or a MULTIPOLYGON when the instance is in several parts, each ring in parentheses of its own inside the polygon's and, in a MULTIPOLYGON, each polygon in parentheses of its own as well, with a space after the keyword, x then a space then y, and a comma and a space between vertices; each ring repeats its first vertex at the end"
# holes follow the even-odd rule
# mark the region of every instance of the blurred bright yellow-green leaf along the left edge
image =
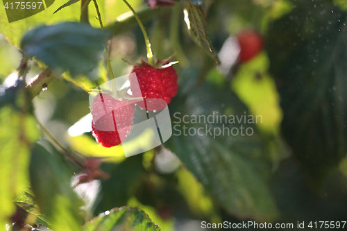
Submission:
POLYGON ((11 97, 7 97, 7 91, 0 96, 0 227, 15 212, 13 197, 22 194, 28 185, 31 143, 39 136, 35 119, 26 113, 28 105, 22 86, 18 84, 11 97))

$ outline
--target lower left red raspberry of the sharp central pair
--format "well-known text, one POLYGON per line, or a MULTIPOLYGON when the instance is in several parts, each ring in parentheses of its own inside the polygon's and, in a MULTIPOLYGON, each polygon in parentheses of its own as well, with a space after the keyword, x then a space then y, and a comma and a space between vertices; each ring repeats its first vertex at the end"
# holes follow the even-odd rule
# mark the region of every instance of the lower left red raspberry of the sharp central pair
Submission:
POLYGON ((92 130, 96 142, 107 148, 124 142, 133 124, 135 106, 110 94, 98 94, 92 104, 92 130))

